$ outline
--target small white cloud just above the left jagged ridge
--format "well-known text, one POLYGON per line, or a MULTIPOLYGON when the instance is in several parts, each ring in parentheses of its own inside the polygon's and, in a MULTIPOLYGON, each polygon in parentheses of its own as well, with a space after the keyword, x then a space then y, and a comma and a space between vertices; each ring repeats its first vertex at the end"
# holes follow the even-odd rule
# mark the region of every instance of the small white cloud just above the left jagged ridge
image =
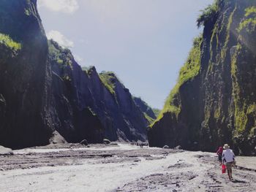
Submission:
POLYGON ((54 41, 58 42, 62 47, 74 47, 74 42, 67 39, 67 37, 64 37, 64 35, 59 31, 49 31, 46 36, 48 39, 53 39, 54 41))

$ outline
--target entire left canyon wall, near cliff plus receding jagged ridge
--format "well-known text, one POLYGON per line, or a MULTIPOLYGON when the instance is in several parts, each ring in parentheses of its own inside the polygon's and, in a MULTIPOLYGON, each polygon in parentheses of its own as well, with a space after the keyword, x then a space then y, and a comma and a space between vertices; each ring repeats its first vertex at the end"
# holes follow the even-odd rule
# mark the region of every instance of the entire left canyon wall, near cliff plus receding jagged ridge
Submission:
POLYGON ((47 145, 59 134, 67 142, 145 141, 146 126, 114 74, 83 71, 48 42, 36 0, 0 1, 0 145, 47 145))

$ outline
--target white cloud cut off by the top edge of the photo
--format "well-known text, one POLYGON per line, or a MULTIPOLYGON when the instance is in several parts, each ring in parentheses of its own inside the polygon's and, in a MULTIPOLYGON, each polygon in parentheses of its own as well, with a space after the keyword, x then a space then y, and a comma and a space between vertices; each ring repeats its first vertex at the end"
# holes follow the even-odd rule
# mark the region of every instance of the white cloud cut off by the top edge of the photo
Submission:
POLYGON ((79 6, 77 0, 39 0, 38 7, 46 7, 53 12, 73 13, 79 6))

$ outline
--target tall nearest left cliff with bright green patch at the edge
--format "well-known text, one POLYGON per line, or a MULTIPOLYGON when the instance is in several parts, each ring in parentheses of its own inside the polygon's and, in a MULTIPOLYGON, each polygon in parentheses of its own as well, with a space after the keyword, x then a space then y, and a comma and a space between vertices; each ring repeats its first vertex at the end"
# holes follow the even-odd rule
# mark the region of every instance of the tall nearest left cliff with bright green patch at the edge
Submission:
POLYGON ((51 136, 48 44, 35 0, 0 1, 0 145, 45 145, 51 136))

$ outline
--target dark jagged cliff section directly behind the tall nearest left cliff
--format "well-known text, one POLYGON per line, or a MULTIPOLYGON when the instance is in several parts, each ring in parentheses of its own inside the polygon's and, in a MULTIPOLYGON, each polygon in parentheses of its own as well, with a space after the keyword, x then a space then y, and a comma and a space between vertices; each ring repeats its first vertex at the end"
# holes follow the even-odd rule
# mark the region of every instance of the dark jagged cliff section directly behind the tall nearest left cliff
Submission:
POLYGON ((70 50, 49 41, 55 128, 67 142, 102 142, 104 127, 90 104, 94 103, 89 77, 75 62, 70 50))

